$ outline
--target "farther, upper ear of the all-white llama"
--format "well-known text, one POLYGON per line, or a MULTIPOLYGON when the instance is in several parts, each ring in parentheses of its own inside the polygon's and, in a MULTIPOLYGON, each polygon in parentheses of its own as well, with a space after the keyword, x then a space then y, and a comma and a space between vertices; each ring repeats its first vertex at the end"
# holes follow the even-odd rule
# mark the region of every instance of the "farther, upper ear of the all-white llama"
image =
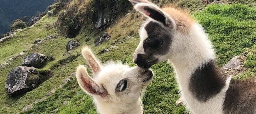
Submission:
POLYGON ((98 74, 101 71, 101 63, 100 61, 95 57, 95 55, 92 53, 91 48, 84 47, 82 49, 82 55, 87 60, 89 66, 91 67, 94 74, 98 74))

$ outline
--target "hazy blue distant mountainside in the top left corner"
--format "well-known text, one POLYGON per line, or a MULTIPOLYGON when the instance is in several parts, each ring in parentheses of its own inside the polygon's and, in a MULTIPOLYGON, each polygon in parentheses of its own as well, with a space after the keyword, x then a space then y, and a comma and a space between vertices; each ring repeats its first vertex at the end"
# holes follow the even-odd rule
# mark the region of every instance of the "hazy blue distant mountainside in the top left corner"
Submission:
POLYGON ((0 1, 0 34, 9 31, 12 21, 23 16, 34 16, 46 10, 53 0, 1 0, 0 1))

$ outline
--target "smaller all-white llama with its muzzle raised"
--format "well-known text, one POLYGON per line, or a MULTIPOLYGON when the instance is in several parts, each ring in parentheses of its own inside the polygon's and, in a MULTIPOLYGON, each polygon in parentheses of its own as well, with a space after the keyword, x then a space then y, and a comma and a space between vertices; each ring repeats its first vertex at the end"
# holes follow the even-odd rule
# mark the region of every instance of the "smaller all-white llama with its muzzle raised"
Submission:
POLYGON ((82 49, 94 77, 80 65, 76 71, 79 86, 94 98, 100 114, 142 114, 143 91, 153 79, 153 72, 140 67, 129 67, 109 62, 102 65, 91 49, 82 49))

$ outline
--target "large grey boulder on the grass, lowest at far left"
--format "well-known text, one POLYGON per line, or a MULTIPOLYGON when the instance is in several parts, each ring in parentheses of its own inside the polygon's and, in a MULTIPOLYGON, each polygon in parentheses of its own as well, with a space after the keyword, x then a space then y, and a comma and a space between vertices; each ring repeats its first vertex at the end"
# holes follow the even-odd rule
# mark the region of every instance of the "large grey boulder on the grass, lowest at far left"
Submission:
POLYGON ((34 67, 18 66, 11 70, 5 84, 7 93, 10 96, 18 95, 36 88, 40 84, 37 74, 34 67))

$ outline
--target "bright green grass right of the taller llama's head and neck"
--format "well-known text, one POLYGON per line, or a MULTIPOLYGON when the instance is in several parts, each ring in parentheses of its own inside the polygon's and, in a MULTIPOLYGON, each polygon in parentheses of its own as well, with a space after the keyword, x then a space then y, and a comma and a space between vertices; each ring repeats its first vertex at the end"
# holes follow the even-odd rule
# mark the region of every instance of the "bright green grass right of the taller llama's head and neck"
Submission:
POLYGON ((218 65, 255 44, 256 10, 246 5, 210 5, 194 13, 212 41, 218 65))

